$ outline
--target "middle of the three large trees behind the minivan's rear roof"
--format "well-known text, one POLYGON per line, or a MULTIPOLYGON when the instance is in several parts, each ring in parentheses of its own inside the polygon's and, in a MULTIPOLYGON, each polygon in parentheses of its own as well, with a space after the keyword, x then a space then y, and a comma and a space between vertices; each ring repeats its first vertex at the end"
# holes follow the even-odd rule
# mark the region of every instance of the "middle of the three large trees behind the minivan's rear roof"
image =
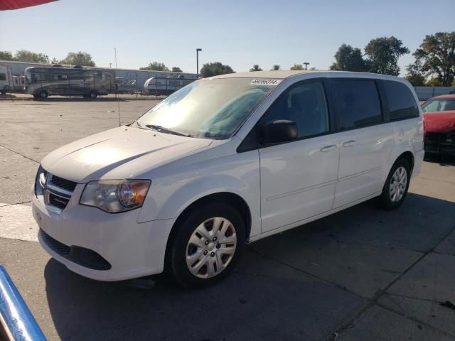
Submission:
POLYGON ((403 46, 402 41, 394 36, 372 39, 365 46, 368 71, 384 75, 400 75, 398 58, 407 53, 410 53, 410 49, 403 46))

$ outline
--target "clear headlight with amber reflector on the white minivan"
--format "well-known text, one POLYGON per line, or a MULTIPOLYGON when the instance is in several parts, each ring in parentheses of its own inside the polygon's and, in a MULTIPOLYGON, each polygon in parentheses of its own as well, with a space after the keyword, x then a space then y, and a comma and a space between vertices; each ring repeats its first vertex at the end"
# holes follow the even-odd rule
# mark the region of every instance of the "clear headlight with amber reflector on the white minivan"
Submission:
POLYGON ((142 206, 150 183, 150 180, 90 181, 79 203, 112 213, 134 210, 142 206))

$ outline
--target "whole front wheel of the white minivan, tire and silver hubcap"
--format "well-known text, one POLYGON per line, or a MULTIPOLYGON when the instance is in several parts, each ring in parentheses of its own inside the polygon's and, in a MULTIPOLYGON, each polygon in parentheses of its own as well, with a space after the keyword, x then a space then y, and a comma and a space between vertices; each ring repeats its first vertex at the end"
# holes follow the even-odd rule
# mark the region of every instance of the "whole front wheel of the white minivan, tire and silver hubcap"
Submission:
POLYGON ((198 207, 176 226, 168 271, 182 286, 203 288, 228 276, 245 244, 245 223, 223 203, 198 207))

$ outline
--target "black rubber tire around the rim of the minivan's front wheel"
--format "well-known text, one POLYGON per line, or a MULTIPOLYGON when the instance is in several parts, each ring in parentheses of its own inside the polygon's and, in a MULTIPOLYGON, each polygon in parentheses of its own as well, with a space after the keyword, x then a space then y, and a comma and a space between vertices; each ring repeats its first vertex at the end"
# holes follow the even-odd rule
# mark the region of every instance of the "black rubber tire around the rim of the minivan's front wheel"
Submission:
MULTIPOLYGON (((212 286, 230 274, 235 267, 235 264, 237 264, 245 245, 245 222, 234 207, 223 202, 213 202, 202 205, 197 207, 193 212, 189 212, 182 217, 182 219, 179 219, 177 224, 178 225, 175 227, 176 232, 173 233, 173 237, 168 244, 166 273, 170 274, 178 284, 186 288, 205 288, 207 286, 212 286), (192 237, 193 232, 196 232, 197 227, 203 224, 203 222, 205 222, 205 224, 210 224, 210 222, 207 221, 214 217, 222 217, 231 222, 230 226, 235 229, 237 244, 235 245, 235 251, 232 258, 230 258, 229 263, 227 263, 224 269, 213 277, 200 278, 193 274, 186 264, 186 256, 189 250, 188 242, 190 237, 192 237)), ((213 243, 210 241, 210 244, 213 243)), ((207 248, 210 247, 210 244, 207 248)), ((216 249, 218 249, 218 246, 216 249)), ((206 261, 210 261, 210 258, 208 257, 213 254, 212 251, 216 251, 216 249, 208 251, 209 254, 206 250, 203 251, 205 252, 204 254, 207 255, 205 256, 206 259, 208 259, 206 261)), ((218 258, 218 256, 215 257, 218 258)), ((201 261, 201 263, 203 262, 201 261)))

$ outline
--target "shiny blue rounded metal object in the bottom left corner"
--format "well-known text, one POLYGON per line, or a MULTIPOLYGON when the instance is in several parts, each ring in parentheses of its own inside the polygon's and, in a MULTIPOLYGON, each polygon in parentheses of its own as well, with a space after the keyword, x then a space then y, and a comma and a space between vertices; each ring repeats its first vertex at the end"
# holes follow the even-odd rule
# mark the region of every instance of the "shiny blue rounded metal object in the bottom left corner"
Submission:
POLYGON ((5 268, 0 265, 0 325, 14 341, 45 341, 35 318, 5 268))

